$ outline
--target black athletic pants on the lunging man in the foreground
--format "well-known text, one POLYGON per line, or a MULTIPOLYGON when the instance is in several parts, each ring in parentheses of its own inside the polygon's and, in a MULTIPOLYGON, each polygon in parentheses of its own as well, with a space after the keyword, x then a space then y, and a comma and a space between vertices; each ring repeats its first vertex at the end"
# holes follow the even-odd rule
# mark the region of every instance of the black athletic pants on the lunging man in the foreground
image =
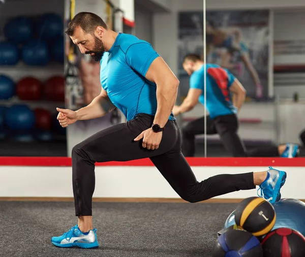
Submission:
MULTIPOLYGON (((133 141, 153 121, 154 116, 138 114, 133 120, 106 128, 73 147, 72 179, 76 216, 92 215, 96 162, 124 162, 148 157, 177 194, 191 203, 255 188, 253 172, 216 175, 198 182, 181 153, 181 134, 176 121, 166 123, 157 150, 147 150, 142 147, 141 141, 133 141)), ((149 181, 139 178, 141 182, 149 181)))

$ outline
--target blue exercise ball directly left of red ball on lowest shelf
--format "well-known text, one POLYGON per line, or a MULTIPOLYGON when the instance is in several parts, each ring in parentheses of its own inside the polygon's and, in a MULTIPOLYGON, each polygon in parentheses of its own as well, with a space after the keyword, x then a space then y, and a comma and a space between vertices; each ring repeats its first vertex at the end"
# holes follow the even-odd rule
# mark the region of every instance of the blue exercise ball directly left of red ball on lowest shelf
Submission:
POLYGON ((13 105, 5 111, 5 122, 10 130, 28 131, 35 125, 35 114, 26 105, 13 105))

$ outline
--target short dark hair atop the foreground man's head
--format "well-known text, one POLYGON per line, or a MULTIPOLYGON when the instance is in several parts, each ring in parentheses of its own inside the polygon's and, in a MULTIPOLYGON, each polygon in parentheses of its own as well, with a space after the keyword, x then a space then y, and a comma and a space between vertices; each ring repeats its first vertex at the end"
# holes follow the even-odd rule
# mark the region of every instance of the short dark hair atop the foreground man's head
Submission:
POLYGON ((69 22, 66 34, 68 36, 74 35, 74 30, 77 27, 81 27, 86 34, 93 34, 97 26, 102 26, 107 29, 106 23, 102 18, 94 13, 81 12, 74 16, 69 22))

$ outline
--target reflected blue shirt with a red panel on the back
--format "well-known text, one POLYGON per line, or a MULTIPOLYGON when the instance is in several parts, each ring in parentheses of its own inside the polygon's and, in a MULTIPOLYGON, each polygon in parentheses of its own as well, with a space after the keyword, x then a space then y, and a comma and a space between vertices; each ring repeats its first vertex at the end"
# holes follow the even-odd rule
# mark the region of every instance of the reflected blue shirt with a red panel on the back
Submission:
POLYGON ((221 115, 236 114, 237 109, 231 100, 229 91, 235 77, 219 65, 207 64, 193 72, 190 78, 190 88, 202 90, 199 102, 204 105, 204 69, 206 68, 206 109, 210 118, 221 115))

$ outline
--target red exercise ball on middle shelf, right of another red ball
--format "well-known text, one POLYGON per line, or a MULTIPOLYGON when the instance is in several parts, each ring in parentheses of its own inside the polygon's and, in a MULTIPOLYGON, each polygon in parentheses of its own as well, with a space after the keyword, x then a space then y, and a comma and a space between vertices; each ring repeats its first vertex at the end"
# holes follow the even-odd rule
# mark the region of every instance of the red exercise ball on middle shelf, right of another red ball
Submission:
POLYGON ((44 93, 46 100, 65 102, 65 78, 61 76, 49 78, 45 83, 44 93))

